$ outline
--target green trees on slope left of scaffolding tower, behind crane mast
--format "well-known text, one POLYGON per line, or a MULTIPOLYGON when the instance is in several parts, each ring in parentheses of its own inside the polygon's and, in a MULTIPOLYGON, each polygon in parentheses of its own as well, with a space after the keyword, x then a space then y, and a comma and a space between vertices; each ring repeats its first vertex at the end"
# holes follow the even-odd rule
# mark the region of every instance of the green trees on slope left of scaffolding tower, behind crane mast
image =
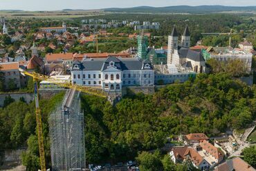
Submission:
MULTIPOLYGON (((62 100, 63 96, 64 93, 62 92, 50 100, 39 101, 42 110, 44 144, 48 166, 51 160, 48 114, 53 110, 56 103, 62 100)), ((22 155, 22 162, 27 166, 27 170, 37 170, 39 168, 39 150, 35 129, 35 102, 27 104, 23 98, 20 101, 14 101, 10 97, 6 97, 4 108, 0 108, 0 151, 28 145, 28 150, 22 155)))

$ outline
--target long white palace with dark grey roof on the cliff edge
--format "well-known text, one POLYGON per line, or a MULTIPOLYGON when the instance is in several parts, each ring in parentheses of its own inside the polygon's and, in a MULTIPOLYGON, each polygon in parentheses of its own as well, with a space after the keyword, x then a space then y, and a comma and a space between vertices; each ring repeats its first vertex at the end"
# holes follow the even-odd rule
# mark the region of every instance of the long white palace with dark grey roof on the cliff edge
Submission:
POLYGON ((105 91, 121 91, 125 86, 154 86, 152 63, 140 59, 108 57, 74 61, 71 75, 73 84, 105 91))

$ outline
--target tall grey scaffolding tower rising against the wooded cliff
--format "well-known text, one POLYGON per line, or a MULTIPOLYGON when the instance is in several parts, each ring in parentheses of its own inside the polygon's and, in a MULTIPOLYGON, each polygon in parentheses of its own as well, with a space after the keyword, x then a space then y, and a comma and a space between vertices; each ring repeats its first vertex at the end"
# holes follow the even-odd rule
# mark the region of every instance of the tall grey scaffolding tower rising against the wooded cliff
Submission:
POLYGON ((84 114, 80 93, 67 90, 64 100, 49 117, 53 171, 85 170, 84 114))

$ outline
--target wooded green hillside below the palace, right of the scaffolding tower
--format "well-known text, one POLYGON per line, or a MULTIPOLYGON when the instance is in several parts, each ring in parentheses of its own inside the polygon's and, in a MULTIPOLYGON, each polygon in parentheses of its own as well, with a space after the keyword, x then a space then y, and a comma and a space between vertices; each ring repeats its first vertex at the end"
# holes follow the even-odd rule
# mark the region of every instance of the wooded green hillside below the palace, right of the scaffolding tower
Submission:
POLYGON ((152 95, 130 94, 116 106, 83 96, 86 161, 133 159, 138 151, 161 148, 172 134, 244 129, 256 117, 255 97, 255 87, 228 74, 199 74, 152 95))

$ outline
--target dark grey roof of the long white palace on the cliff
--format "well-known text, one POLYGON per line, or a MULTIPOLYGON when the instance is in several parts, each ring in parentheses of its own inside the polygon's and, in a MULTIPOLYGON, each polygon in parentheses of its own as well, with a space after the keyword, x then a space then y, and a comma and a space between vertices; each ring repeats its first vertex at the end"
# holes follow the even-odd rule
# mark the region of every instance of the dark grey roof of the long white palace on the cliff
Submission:
MULTIPOLYGON (((109 63, 113 61, 118 70, 141 70, 143 68, 143 62, 148 63, 148 61, 141 61, 140 59, 122 59, 117 57, 108 57, 107 59, 90 59, 82 62, 84 66, 83 70, 106 70, 109 63)), ((150 62, 149 62, 150 63, 150 62)), ((152 68, 152 65, 150 65, 152 68)))

